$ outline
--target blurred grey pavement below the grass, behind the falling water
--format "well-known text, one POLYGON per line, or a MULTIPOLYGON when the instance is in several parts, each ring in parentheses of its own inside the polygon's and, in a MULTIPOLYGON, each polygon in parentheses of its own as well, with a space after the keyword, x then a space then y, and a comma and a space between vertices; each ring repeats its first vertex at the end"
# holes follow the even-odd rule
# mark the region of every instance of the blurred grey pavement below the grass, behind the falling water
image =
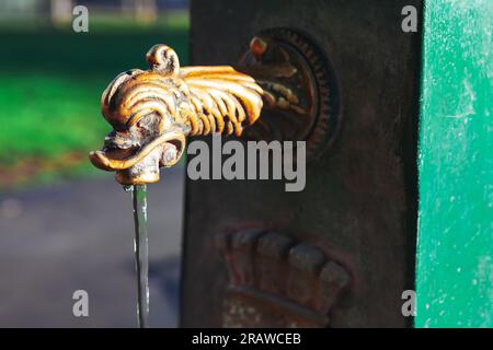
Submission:
MULTIPOLYGON (((0 327, 135 327, 129 194, 107 180, 0 194, 0 327), (74 317, 72 293, 89 293, 74 317)), ((150 324, 177 319, 183 170, 150 186, 150 324)))

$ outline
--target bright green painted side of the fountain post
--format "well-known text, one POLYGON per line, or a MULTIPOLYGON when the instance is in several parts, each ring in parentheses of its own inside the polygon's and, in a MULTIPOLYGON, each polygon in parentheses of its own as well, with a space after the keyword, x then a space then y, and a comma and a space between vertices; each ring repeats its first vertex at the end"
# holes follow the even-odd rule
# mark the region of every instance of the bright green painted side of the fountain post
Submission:
POLYGON ((416 327, 493 326, 491 0, 427 0, 416 327))

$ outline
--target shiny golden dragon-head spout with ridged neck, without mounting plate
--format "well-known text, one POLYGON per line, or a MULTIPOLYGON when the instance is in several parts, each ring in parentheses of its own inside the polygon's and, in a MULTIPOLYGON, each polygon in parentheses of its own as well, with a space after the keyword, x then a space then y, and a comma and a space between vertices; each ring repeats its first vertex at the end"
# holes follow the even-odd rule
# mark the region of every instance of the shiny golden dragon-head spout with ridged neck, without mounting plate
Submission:
POLYGON ((186 136, 239 136, 262 109, 262 89, 231 67, 180 68, 165 45, 153 46, 146 59, 149 70, 121 73, 103 92, 102 114, 114 130, 89 155, 123 185, 158 182, 159 168, 180 160, 186 136))

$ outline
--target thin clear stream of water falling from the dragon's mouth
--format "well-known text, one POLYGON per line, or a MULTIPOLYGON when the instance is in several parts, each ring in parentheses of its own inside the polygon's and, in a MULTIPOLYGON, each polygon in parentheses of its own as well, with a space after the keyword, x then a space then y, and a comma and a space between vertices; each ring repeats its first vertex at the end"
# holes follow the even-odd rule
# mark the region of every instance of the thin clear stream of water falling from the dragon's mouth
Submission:
POLYGON ((149 245, 146 185, 133 186, 131 196, 135 222, 135 266, 137 271, 137 322, 140 328, 147 328, 149 326, 149 245))

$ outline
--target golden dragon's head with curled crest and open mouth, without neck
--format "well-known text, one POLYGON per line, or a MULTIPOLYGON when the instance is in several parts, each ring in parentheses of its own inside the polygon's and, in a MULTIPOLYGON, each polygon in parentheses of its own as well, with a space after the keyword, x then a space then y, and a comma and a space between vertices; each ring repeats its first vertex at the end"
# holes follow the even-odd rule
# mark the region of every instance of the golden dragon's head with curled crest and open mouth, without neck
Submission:
POLYGON ((163 45, 147 54, 150 70, 118 74, 101 96, 102 114, 113 126, 101 151, 89 154, 96 167, 116 172, 123 185, 159 180, 159 168, 172 166, 185 149, 186 126, 177 113, 183 92, 173 73, 176 54, 163 45))

